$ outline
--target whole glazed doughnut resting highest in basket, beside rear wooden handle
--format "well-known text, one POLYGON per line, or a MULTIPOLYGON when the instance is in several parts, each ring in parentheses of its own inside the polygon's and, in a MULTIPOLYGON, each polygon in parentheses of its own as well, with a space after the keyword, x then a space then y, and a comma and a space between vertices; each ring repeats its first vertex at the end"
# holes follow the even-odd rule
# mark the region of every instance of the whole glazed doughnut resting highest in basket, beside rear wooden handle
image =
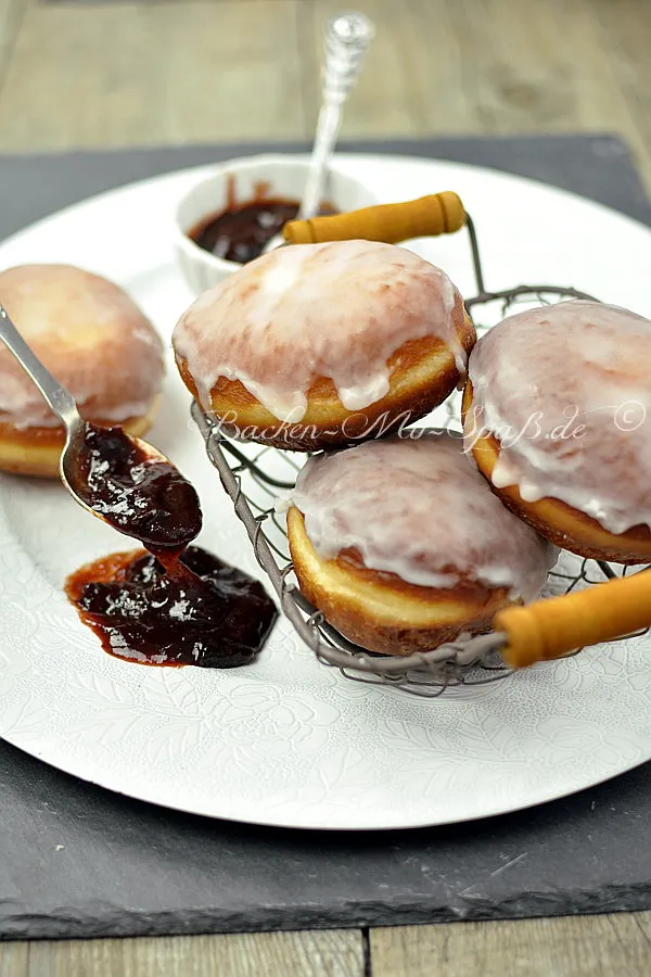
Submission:
POLYGON ((447 275, 404 248, 280 248, 201 295, 174 332, 186 384, 227 433, 295 451, 427 414, 475 342, 447 275))

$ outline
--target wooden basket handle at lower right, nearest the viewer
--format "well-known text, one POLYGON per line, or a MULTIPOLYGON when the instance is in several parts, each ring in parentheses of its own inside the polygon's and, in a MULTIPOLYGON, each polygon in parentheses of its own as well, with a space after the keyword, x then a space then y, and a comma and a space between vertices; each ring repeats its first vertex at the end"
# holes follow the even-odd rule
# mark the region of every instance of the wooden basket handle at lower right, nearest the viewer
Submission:
POLYGON ((575 594, 511 607, 495 616, 507 636, 501 656, 514 669, 562 658, 585 645, 624 637, 651 625, 651 570, 575 594))

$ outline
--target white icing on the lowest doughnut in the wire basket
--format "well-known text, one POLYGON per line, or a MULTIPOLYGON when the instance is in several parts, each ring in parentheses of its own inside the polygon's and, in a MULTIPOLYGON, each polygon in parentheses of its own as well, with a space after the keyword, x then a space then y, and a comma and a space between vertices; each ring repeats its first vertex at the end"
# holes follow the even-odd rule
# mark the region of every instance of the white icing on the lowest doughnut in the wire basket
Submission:
POLYGON ((353 547, 369 569, 419 586, 470 580, 533 600, 558 556, 492 493, 460 436, 445 432, 316 456, 289 504, 321 559, 353 547))

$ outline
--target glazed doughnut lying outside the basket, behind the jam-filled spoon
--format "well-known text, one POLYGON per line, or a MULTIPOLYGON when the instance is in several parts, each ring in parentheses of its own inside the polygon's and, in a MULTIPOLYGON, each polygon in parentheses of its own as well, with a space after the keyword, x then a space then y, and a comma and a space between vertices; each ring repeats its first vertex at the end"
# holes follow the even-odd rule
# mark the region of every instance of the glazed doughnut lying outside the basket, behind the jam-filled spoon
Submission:
MULTIPOLYGON (((0 302, 86 420, 149 428, 163 379, 153 326, 113 282, 72 265, 0 274, 0 302)), ((56 478, 64 429, 0 343, 0 469, 56 478)))

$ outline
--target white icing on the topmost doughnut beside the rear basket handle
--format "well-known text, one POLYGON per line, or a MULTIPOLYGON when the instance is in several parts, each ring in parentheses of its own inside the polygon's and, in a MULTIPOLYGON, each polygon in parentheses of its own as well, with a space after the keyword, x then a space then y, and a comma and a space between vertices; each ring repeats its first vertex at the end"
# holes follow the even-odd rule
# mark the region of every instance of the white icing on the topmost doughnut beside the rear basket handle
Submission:
POLYGON ((388 392, 387 359, 409 340, 441 339, 465 370, 447 275, 392 244, 340 241, 281 248, 201 295, 174 332, 204 408, 220 377, 267 410, 299 421, 318 377, 347 410, 388 392))

